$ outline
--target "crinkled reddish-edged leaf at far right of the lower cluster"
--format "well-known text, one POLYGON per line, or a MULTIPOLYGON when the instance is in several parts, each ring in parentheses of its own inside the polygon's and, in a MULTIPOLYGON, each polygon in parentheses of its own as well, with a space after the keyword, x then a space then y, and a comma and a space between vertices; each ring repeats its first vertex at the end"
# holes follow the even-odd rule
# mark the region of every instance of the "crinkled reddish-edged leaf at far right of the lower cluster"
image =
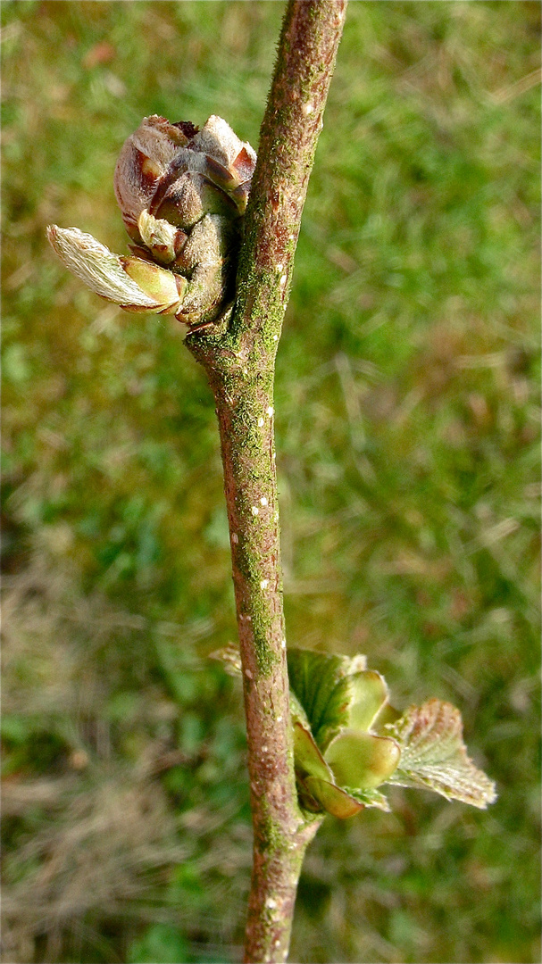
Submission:
POLYGON ((450 703, 428 700, 411 707, 386 730, 401 748, 389 783, 434 790, 481 810, 497 799, 493 781, 467 756, 461 713, 450 703))

